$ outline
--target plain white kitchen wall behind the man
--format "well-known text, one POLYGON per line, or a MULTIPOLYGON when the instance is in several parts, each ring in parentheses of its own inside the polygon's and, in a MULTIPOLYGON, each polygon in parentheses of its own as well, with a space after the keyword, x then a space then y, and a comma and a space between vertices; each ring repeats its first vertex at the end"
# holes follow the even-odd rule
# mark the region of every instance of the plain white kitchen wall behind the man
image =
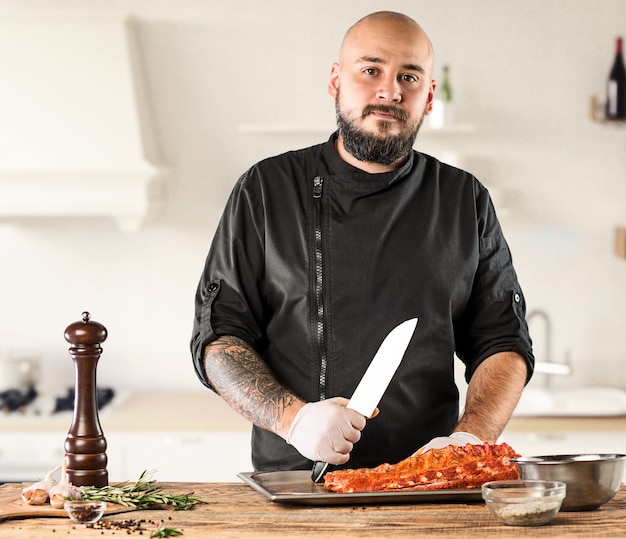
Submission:
MULTIPOLYGON (((0 14, 38 4, 0 0, 0 14)), ((199 389, 188 352, 193 297, 230 186, 257 159, 326 138, 247 135, 238 125, 332 125, 326 82, 345 29, 395 9, 429 33, 436 75, 451 66, 459 120, 477 128, 445 142, 422 133, 417 146, 441 155, 454 148, 503 192, 502 223, 528 307, 551 315, 552 350, 557 361, 570 351, 573 382, 626 388, 626 260, 612 252, 613 228, 626 225, 626 128, 589 118, 614 38, 626 33, 626 2, 115 5, 138 17, 156 138, 172 170, 163 210, 135 234, 105 219, 0 224, 0 349, 39 354, 49 384, 70 384, 63 332, 89 310, 109 330, 100 383, 199 389)))

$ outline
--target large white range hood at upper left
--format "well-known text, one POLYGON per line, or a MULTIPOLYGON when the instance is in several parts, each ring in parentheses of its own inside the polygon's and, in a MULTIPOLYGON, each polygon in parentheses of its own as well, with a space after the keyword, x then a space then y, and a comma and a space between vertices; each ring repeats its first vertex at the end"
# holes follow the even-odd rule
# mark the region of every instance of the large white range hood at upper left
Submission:
POLYGON ((0 220, 107 216, 136 230, 158 205, 134 30, 87 7, 0 18, 0 220))

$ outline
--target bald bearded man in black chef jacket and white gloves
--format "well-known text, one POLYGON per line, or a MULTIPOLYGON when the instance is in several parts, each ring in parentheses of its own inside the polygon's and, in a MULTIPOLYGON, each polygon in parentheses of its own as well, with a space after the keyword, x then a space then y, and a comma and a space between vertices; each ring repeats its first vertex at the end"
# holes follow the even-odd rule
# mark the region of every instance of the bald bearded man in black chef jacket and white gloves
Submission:
POLYGON ((532 374, 525 302, 487 191, 412 149, 432 71, 415 21, 361 19, 330 74, 337 133, 258 163, 229 199, 191 348, 202 382, 254 423, 257 470, 493 443, 532 374), (384 337, 413 317, 378 416, 346 408, 384 337), (460 421, 455 352, 469 380, 460 421))

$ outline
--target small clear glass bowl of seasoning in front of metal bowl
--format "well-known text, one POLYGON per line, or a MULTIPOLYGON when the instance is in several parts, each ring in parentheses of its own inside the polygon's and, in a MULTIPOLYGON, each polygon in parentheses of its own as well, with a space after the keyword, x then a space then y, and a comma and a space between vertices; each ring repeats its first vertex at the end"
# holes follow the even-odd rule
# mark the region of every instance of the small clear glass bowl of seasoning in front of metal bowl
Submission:
POLYGON ((562 481, 491 481, 482 487, 489 511, 508 526, 541 526, 550 522, 565 498, 562 481))

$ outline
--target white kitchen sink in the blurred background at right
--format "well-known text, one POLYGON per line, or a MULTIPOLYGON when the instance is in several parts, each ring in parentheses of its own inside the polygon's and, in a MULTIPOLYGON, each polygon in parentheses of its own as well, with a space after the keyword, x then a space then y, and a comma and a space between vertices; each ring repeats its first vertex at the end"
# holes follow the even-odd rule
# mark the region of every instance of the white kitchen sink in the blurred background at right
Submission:
POLYGON ((613 387, 527 387, 514 416, 609 417, 626 415, 626 391, 613 387))

